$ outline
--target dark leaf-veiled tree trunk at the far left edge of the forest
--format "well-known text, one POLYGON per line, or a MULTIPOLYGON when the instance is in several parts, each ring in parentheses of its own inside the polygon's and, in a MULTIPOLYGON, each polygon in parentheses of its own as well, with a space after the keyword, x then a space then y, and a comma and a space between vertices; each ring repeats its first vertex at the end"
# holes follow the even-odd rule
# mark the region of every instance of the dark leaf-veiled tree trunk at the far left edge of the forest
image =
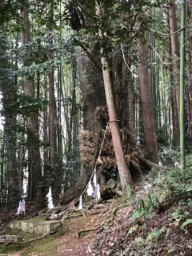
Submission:
MULTIPOLYGON (((6 38, 3 26, 0 25, 0 56, 6 54, 6 38)), ((12 108, 12 102, 16 100, 16 85, 13 79, 10 79, 10 74, 6 72, 8 69, 7 57, 0 61, 1 80, 2 80, 2 94, 3 94, 3 116, 5 117, 4 123, 4 136, 7 146, 7 180, 8 180, 8 204, 15 203, 19 199, 19 178, 18 170, 16 168, 16 113, 12 108), (4 72, 3 72, 4 71, 4 72)), ((4 142, 3 142, 4 148, 4 142)), ((2 151, 4 155, 4 150, 2 151)), ((4 162, 1 160, 3 165, 4 162)), ((3 165, 1 165, 1 193, 3 192, 3 165)), ((7 184, 6 184, 7 185, 7 184)), ((7 192, 7 191, 6 191, 7 192)), ((6 193, 5 192, 5 193, 6 193)), ((1 196, 1 195, 0 195, 1 196)))

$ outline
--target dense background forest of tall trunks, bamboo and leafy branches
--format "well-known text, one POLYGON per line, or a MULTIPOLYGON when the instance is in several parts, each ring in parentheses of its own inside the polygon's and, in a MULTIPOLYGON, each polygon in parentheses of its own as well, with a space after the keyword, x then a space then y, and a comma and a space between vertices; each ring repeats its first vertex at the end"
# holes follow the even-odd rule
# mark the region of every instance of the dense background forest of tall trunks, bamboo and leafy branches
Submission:
MULTIPOLYGON (((1 205, 34 199, 42 181, 55 196, 69 190, 66 202, 84 189, 109 121, 103 71, 132 177, 152 162, 179 162, 184 30, 183 132, 191 152, 191 0, 183 27, 181 7, 174 0, 0 2, 1 205)), ((100 181, 118 176, 108 144, 100 181)))

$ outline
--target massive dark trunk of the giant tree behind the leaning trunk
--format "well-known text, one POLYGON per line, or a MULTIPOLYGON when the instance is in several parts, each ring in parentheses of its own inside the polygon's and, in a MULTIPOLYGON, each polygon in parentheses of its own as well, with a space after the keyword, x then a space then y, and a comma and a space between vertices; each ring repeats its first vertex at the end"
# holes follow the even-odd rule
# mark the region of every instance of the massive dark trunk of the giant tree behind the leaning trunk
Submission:
MULTIPOLYGON (((95 118, 95 109, 99 106, 106 106, 105 88, 101 71, 93 61, 87 56, 77 59, 80 88, 84 100, 83 116, 84 129, 98 132, 101 124, 95 118)), ((91 166, 92 167, 92 166, 91 166)), ((72 189, 64 195, 61 204, 68 204, 74 199, 78 199, 82 191, 86 188, 91 176, 90 168, 84 167, 79 180, 72 189)))

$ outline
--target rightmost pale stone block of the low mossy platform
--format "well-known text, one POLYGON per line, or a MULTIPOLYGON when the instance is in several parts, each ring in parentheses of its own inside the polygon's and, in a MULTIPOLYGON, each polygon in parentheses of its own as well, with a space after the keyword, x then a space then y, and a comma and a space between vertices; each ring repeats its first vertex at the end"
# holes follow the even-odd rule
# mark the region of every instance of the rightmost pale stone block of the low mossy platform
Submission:
POLYGON ((34 233, 37 235, 44 235, 46 233, 52 232, 61 227, 61 221, 42 221, 35 223, 34 233))

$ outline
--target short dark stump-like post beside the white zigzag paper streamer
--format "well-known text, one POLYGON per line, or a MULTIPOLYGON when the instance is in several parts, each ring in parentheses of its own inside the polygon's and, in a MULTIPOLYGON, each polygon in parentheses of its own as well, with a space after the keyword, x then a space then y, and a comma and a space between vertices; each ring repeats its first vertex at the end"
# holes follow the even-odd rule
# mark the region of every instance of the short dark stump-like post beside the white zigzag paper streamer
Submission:
POLYGON ((46 191, 45 189, 48 188, 43 182, 39 182, 37 186, 37 198, 36 198, 36 208, 45 208, 47 207, 47 200, 46 200, 46 191))

